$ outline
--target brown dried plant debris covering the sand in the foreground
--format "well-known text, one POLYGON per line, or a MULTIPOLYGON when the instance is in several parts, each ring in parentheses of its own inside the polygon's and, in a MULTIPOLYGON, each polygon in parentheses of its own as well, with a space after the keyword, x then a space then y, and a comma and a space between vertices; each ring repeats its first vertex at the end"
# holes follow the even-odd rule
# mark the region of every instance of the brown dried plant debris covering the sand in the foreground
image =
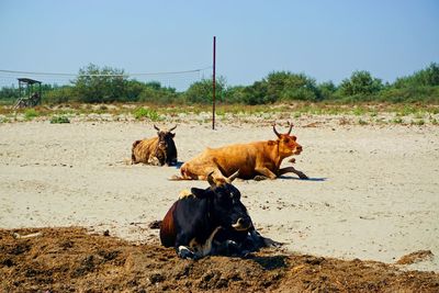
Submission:
POLYGON ((438 292, 439 274, 274 250, 192 261, 158 241, 134 245, 79 227, 0 229, 0 292, 70 291, 438 292))

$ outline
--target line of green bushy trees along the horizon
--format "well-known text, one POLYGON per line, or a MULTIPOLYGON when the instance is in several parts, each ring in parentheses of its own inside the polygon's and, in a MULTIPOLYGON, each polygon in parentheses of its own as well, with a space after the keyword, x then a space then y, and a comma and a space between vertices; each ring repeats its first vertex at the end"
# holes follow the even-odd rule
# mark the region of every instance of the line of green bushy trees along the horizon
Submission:
MULTIPOLYGON (((212 103, 212 79, 193 82, 185 91, 162 87, 160 82, 140 82, 128 79, 124 70, 88 65, 79 70, 71 84, 43 84, 43 102, 48 104, 81 102, 145 102, 151 104, 212 103)), ((15 100, 19 90, 3 87, 0 100, 15 100)), ((304 74, 273 71, 250 86, 226 84, 216 80, 215 97, 221 103, 269 104, 277 102, 425 102, 439 103, 439 65, 430 64, 410 76, 383 82, 369 71, 354 71, 339 84, 333 81, 317 83, 304 74)))

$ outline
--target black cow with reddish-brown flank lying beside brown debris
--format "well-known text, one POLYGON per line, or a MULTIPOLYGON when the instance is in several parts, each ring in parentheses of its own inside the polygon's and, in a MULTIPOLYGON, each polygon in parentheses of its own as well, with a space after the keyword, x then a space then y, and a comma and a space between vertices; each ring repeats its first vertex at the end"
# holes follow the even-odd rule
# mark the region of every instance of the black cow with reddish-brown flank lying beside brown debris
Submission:
POLYGON ((274 241, 260 236, 228 178, 207 176, 207 189, 192 188, 172 204, 160 225, 160 240, 181 258, 245 255, 274 241))

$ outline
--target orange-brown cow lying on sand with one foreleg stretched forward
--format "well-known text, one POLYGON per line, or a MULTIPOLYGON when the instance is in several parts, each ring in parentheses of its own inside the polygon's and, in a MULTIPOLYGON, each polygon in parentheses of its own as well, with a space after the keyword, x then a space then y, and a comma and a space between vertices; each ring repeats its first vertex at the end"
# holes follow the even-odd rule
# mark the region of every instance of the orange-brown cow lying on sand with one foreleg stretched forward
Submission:
MULTIPOLYGON (((239 170, 241 179, 275 179, 284 173, 293 172, 302 179, 307 179, 303 172, 294 167, 280 168, 282 160, 292 155, 299 155, 302 146, 296 137, 290 135, 293 124, 285 134, 279 134, 273 124, 277 140, 236 144, 219 148, 207 148, 199 156, 181 166, 181 177, 176 180, 205 180, 213 172, 214 177, 229 177, 239 170)), ((290 160, 294 162, 294 160, 290 160)))

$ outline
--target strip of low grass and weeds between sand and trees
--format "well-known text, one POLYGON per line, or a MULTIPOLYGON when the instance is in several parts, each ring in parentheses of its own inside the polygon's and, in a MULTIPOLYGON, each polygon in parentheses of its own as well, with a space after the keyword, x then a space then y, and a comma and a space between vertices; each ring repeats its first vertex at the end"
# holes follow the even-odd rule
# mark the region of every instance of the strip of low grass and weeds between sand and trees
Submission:
MULTIPOLYGON (((195 119, 199 123, 210 123, 211 104, 154 105, 149 103, 63 103, 53 106, 40 105, 33 109, 0 106, 0 123, 32 121, 35 117, 48 120, 50 123, 69 123, 71 117, 98 121, 173 121, 181 122, 195 119), (200 115, 201 114, 201 115, 200 115)), ((358 102, 340 104, 330 101, 275 104, 227 104, 216 106, 218 121, 247 121, 249 116, 263 121, 305 120, 309 116, 326 115, 324 121, 338 121, 344 124, 359 125, 438 125, 439 104, 426 103, 370 103, 358 102)), ((248 120, 248 121, 251 121, 248 120)))

